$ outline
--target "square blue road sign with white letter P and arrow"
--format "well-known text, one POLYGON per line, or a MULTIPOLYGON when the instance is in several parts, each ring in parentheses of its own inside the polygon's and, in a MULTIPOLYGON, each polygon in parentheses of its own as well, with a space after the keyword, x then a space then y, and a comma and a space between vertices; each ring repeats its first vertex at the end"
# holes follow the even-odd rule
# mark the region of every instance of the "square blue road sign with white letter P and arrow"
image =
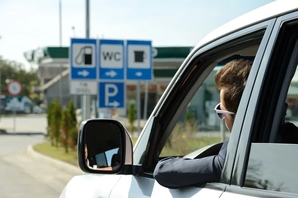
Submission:
POLYGON ((99 108, 124 108, 125 83, 99 82, 99 108))

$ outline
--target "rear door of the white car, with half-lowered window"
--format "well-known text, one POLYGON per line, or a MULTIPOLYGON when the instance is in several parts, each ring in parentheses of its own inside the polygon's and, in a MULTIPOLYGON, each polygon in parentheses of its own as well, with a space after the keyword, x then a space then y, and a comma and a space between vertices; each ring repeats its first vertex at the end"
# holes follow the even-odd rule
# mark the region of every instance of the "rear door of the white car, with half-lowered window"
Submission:
POLYGON ((221 198, 298 197, 297 65, 296 11, 276 21, 243 123, 231 186, 221 198), (289 108, 293 114, 287 118, 289 108))

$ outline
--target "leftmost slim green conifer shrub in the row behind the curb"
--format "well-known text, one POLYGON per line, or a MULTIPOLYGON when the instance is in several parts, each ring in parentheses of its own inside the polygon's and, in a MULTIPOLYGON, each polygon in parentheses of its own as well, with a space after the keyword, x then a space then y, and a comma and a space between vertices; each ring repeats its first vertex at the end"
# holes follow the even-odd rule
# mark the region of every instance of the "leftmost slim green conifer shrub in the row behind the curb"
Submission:
POLYGON ((58 99, 54 99, 51 109, 51 139, 55 140, 55 146, 58 148, 61 134, 62 108, 58 99))

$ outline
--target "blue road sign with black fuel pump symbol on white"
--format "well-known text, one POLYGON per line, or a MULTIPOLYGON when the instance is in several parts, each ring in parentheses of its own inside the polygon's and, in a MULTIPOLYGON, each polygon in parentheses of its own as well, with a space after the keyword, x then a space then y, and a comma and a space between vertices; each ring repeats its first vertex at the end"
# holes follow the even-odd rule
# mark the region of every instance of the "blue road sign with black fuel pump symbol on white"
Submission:
POLYGON ((96 40, 72 39, 71 51, 71 80, 96 80, 96 40))

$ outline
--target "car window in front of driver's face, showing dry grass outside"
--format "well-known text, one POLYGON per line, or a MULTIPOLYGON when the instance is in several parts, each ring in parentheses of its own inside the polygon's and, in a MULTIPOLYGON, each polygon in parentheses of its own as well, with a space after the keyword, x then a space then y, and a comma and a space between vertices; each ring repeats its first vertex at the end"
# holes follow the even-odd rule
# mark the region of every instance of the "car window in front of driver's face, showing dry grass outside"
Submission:
MULTIPOLYGON (((220 92, 215 84, 216 72, 230 60, 254 60, 259 44, 240 49, 213 62, 214 69, 188 103, 180 119, 169 135, 160 158, 184 156, 200 148, 224 142, 230 135, 224 120, 215 113, 220 103, 220 92)), ((196 66, 193 67, 193 70, 196 66)), ((186 78, 185 81, 187 81, 186 78)))

